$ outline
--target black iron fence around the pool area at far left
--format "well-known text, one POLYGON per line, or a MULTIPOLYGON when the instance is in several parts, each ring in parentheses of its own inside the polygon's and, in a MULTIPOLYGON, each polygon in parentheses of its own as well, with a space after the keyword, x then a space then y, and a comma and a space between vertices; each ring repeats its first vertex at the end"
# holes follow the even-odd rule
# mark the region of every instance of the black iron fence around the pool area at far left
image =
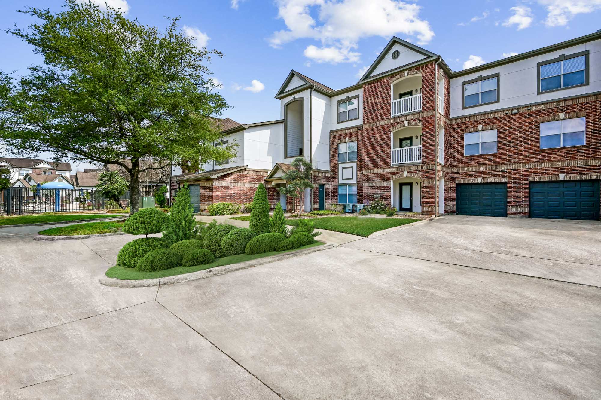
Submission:
POLYGON ((102 210, 104 199, 94 189, 9 187, 0 192, 0 214, 102 210))

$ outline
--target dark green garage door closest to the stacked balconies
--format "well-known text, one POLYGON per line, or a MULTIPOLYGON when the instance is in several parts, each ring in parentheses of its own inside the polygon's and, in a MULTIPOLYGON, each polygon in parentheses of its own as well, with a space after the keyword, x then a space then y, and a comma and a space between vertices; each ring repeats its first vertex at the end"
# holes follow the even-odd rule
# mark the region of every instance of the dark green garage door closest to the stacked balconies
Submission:
POLYGON ((506 183, 457 185, 457 214, 507 217, 506 183))

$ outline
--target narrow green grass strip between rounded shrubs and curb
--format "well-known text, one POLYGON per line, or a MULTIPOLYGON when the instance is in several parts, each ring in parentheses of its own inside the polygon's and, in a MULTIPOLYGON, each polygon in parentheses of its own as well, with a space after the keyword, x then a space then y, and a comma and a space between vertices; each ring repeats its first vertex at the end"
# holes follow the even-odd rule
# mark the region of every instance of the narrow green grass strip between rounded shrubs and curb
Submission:
MULTIPOLYGON (((302 246, 302 247, 299 247, 298 249, 294 249, 294 250, 308 249, 309 247, 320 246, 322 244, 325 244, 325 243, 323 241, 316 241, 313 244, 307 244, 307 246, 302 246)), ((114 267, 111 267, 106 271, 106 276, 116 278, 116 279, 132 279, 132 280, 153 279, 153 278, 157 278, 157 277, 174 276, 174 275, 187 274, 187 273, 201 271, 201 270, 208 270, 209 268, 221 267, 222 265, 237 264, 239 262, 251 261, 251 259, 268 257, 268 256, 276 255, 276 254, 287 253, 287 252, 294 251, 294 250, 287 250, 284 252, 269 252, 269 253, 261 253, 261 254, 252 254, 252 255, 239 254, 239 255, 234 255, 234 256, 218 258, 215 261, 211 262, 210 264, 197 265, 196 267, 175 267, 175 268, 169 268, 168 270, 153 271, 153 272, 137 271, 136 268, 123 268, 118 265, 115 265, 114 267)))

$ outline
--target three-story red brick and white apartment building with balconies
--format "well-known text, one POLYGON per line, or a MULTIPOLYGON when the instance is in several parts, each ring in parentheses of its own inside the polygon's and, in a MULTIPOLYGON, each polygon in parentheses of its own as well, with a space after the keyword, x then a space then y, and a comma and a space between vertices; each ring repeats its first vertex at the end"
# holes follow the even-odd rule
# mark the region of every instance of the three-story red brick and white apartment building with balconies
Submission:
POLYGON ((237 144, 236 159, 176 178, 198 183, 198 208, 249 202, 260 182, 285 204, 278 177, 302 156, 316 169, 305 210, 380 198, 424 214, 599 219, 601 32, 462 71, 394 37, 355 85, 293 70, 276 98, 280 120, 227 121, 216 145, 237 144))

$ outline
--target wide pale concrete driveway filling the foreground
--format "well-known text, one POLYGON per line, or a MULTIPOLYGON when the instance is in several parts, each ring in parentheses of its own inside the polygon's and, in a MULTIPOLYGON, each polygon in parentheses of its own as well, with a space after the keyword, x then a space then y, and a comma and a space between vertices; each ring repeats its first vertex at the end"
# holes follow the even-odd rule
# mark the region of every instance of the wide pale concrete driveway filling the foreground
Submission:
POLYGON ((445 217, 139 289, 97 284, 131 237, 0 237, 0 398, 599 399, 600 232, 445 217))

